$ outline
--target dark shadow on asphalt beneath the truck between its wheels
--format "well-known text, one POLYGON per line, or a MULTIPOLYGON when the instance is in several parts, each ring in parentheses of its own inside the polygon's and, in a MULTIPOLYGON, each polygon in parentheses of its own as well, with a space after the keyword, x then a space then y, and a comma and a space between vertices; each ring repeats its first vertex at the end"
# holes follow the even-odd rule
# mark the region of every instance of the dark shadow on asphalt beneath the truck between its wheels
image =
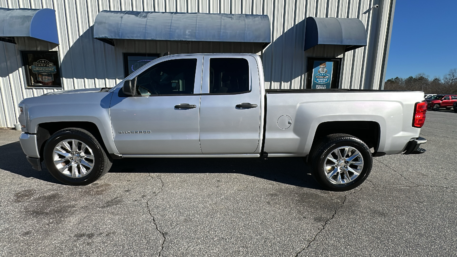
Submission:
POLYGON ((298 187, 324 190, 301 157, 284 158, 125 158, 109 172, 237 173, 298 187))

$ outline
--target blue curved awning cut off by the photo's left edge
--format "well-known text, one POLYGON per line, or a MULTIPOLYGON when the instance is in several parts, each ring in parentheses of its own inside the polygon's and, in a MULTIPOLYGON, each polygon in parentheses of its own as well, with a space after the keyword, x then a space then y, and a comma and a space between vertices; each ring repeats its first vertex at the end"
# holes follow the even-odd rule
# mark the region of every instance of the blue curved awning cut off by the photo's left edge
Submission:
POLYGON ((58 44, 55 11, 0 8, 0 40, 15 43, 14 37, 33 37, 58 44))

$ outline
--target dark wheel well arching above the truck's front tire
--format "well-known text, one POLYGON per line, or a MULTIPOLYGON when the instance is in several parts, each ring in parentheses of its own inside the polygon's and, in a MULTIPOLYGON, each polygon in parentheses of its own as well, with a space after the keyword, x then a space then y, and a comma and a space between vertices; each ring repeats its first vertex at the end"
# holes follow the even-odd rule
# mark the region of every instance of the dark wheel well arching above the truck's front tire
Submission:
POLYGON ((100 145, 103 149, 106 150, 105 143, 101 137, 100 131, 95 123, 87 122, 87 121, 65 121, 65 122, 47 122, 47 123, 40 123, 38 124, 37 128, 37 146, 40 150, 40 159, 43 161, 43 150, 44 145, 46 145, 46 141, 61 129, 66 128, 80 128, 89 131, 94 137, 98 140, 100 145))

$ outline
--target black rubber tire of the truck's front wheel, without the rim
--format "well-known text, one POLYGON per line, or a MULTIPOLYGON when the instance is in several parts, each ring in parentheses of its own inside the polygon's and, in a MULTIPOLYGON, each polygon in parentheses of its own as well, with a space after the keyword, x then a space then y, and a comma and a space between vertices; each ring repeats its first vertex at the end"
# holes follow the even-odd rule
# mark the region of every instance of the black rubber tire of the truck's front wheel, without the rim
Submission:
POLYGON ((44 146, 44 162, 48 171, 58 181, 71 186, 84 186, 101 178, 112 166, 112 159, 89 131, 79 128, 62 129, 54 133, 44 146), (65 139, 76 139, 87 145, 94 155, 94 166, 84 177, 67 177, 54 165, 53 152, 56 145, 65 139))

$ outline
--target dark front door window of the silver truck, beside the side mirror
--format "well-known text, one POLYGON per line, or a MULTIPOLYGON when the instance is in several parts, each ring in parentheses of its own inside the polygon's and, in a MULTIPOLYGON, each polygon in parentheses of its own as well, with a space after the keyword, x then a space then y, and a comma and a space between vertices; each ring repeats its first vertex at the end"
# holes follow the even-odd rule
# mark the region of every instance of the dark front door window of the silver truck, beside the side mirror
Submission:
POLYGON ((168 60, 137 76, 138 95, 193 94, 197 59, 168 60))

